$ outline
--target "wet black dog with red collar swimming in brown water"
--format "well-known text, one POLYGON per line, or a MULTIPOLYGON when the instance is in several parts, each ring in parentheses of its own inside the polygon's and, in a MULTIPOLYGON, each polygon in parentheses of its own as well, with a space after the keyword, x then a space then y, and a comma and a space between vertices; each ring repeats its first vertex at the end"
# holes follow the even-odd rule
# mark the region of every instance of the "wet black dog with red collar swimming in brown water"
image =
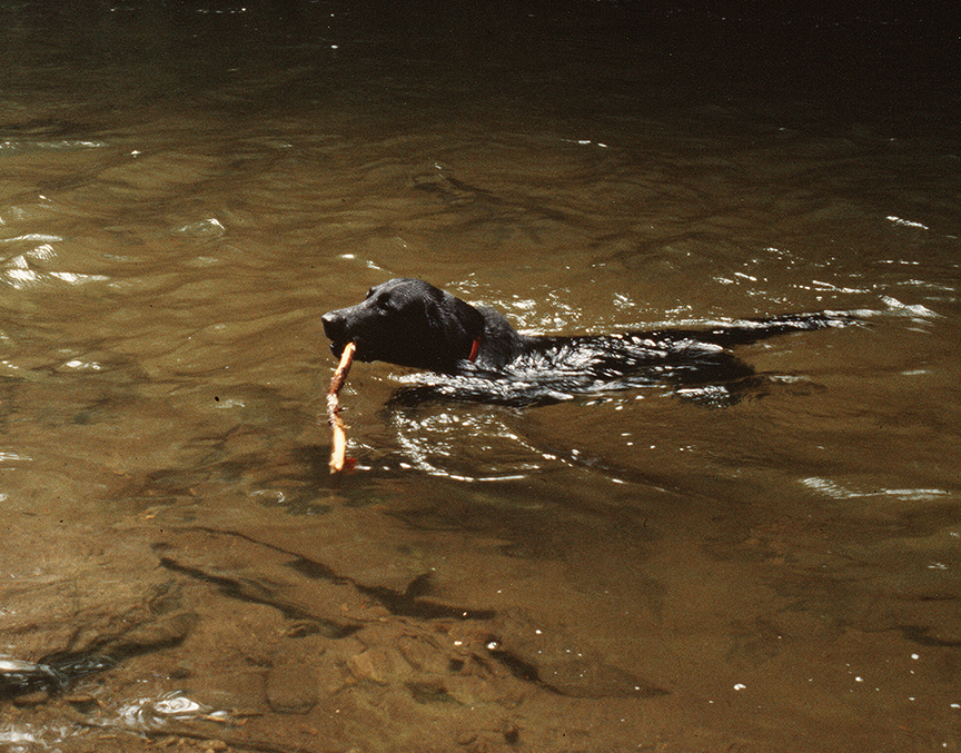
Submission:
POLYGON ((725 385, 754 373, 727 347, 856 320, 851 314, 825 311, 742 319, 704 329, 531 336, 519 334, 494 309, 470 306, 407 278, 373 287, 363 303, 323 317, 335 356, 353 341, 357 360, 449 375, 459 382, 448 380, 440 390, 446 395, 508 403, 553 402, 664 382, 725 385), (505 392, 505 382, 513 388, 505 392))

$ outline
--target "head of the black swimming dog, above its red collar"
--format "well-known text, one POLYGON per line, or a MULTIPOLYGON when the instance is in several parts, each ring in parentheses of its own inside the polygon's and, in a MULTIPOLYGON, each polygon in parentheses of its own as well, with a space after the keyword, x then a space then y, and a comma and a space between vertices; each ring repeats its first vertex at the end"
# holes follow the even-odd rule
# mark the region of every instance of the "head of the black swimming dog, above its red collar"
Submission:
POLYGON ((347 343, 358 360, 455 374, 473 360, 484 334, 484 317, 473 306, 423 280, 397 278, 377 285, 356 306, 323 317, 330 350, 347 343))

